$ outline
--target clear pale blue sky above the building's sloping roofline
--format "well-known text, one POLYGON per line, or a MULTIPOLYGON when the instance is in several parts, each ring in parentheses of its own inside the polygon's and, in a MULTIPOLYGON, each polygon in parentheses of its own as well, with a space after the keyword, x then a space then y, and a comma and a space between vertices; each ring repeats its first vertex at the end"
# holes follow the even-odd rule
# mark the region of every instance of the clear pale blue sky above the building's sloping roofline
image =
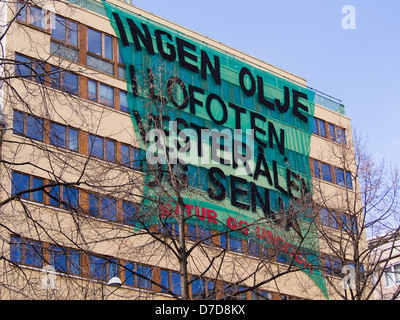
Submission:
POLYGON ((376 161, 400 167, 399 0, 133 0, 181 26, 294 73, 344 103, 376 161), (342 7, 356 29, 342 28, 342 7))

